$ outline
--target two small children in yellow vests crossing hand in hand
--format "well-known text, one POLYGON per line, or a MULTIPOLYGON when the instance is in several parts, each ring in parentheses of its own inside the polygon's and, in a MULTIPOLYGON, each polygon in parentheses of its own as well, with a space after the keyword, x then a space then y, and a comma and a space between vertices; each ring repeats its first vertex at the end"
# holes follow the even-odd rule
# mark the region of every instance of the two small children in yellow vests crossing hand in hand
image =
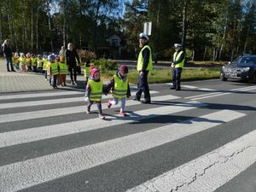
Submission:
MULTIPOLYGON (((131 90, 128 82, 128 67, 121 65, 119 70, 113 75, 113 79, 107 85, 104 91, 105 95, 112 92, 113 100, 108 101, 108 108, 112 105, 121 102, 121 108, 119 115, 125 117, 125 98, 131 96, 131 90)), ((93 103, 96 103, 100 119, 105 119, 102 113, 102 93, 103 93, 103 82, 100 77, 100 71, 96 67, 90 69, 90 79, 88 80, 85 88, 85 101, 88 101, 86 113, 90 113, 90 107, 93 103)))

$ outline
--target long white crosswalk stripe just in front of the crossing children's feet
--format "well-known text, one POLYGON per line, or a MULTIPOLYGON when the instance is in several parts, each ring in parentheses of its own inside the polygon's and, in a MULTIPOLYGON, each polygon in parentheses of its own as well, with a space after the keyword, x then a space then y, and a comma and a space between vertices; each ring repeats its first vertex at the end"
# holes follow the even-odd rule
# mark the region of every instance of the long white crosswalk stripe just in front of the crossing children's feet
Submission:
POLYGON ((150 108, 146 110, 137 111, 136 113, 131 113, 130 117, 125 117, 122 119, 116 117, 107 117, 108 121, 98 119, 86 119, 72 122, 72 127, 70 127, 70 122, 68 122, 59 125, 48 125, 20 131, 3 132, 0 133, 0 148, 20 143, 29 143, 52 137, 61 137, 83 131, 102 129, 113 125, 122 125, 125 123, 131 123, 142 119, 150 119, 158 117, 160 115, 178 113, 194 108, 200 108, 203 106, 205 105, 201 102, 187 102, 182 104, 176 104, 174 106, 150 108))

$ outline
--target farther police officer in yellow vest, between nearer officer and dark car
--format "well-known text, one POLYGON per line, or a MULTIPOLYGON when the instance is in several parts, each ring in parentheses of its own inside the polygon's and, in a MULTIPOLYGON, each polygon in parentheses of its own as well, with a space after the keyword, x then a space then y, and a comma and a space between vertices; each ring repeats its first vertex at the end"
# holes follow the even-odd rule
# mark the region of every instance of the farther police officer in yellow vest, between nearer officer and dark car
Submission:
POLYGON ((171 90, 181 90, 180 79, 185 62, 185 55, 181 44, 174 44, 175 53, 172 58, 172 87, 171 90))

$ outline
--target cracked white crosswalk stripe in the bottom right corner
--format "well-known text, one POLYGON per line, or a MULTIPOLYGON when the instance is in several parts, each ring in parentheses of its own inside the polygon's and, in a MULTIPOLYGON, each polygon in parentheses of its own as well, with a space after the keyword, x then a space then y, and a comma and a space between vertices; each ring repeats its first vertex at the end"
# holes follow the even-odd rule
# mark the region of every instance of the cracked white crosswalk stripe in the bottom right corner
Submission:
POLYGON ((252 131, 127 192, 212 192, 256 162, 255 143, 256 131, 252 131))

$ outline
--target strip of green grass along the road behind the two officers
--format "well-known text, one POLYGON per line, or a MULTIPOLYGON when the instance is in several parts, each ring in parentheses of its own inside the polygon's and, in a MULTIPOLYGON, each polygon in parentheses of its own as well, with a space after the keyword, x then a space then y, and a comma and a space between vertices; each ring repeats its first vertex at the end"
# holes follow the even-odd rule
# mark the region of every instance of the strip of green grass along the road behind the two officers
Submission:
MULTIPOLYGON (((219 67, 196 67, 196 68, 183 68, 182 81, 204 80, 204 79, 218 79, 219 67)), ((102 73, 104 79, 111 79, 115 71, 107 71, 102 73)), ((131 84, 137 83, 138 73, 137 70, 132 69, 128 74, 129 82, 131 84)), ((148 74, 148 82, 152 83, 168 83, 172 81, 172 71, 170 69, 160 69, 150 71, 148 74)))

